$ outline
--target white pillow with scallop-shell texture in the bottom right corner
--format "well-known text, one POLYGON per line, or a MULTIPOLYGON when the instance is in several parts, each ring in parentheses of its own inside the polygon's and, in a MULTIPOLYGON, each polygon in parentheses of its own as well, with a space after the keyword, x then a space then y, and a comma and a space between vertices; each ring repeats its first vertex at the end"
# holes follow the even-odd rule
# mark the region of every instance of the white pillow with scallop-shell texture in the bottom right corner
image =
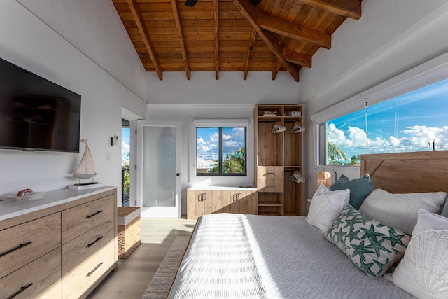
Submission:
POLYGON ((448 298, 447 226, 448 218, 419 211, 411 242, 392 274, 395 285, 416 298, 448 298))

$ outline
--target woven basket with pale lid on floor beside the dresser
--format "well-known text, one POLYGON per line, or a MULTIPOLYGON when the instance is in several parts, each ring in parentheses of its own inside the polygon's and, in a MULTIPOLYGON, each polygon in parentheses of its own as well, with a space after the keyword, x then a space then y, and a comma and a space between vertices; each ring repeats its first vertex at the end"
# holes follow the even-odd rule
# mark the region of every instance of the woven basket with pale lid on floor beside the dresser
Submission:
POLYGON ((118 207, 118 258, 127 258, 140 245, 140 211, 134 218, 130 214, 139 207, 118 207))

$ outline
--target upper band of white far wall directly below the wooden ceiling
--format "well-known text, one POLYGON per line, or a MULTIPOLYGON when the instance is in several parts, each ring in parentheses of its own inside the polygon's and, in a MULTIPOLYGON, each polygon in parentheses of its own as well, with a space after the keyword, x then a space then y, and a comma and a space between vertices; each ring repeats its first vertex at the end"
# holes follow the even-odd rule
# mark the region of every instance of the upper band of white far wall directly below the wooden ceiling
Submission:
MULTIPOLYGON (((269 71, 192 72, 186 79, 183 72, 165 72, 160 81, 154 72, 148 73, 148 104, 297 104, 299 83, 286 71, 272 80, 269 71)), ((200 108, 199 108, 200 109, 200 108)))

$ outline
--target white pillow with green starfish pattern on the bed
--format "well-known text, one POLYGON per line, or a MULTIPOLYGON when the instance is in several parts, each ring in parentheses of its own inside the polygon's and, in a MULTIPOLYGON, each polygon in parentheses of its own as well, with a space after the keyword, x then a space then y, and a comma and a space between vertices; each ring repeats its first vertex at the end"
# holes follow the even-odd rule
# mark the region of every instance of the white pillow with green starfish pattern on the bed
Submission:
POLYGON ((368 277, 381 277, 405 254, 411 237, 348 205, 325 235, 368 277))

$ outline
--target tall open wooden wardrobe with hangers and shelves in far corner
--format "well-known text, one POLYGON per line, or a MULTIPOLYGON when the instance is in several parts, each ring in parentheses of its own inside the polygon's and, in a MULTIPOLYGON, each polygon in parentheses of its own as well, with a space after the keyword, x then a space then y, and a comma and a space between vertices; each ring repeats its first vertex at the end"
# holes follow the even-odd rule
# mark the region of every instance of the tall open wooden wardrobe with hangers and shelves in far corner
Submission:
POLYGON ((255 107, 255 169, 258 214, 305 215, 304 184, 290 180, 304 174, 302 105, 255 107))

